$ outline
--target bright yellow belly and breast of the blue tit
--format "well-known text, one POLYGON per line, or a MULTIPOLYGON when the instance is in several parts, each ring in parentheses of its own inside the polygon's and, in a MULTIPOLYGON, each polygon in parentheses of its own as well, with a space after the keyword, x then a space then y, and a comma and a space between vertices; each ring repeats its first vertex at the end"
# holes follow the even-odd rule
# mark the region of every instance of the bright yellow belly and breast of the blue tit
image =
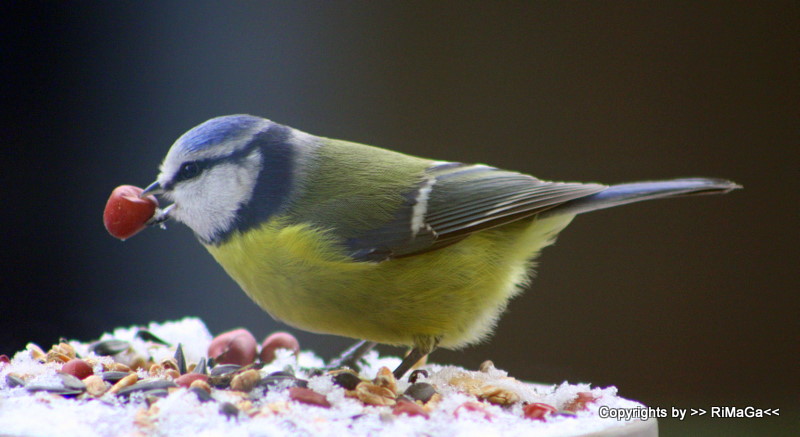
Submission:
POLYGON ((380 263, 354 262, 324 231, 281 219, 206 248, 251 299, 289 325, 396 345, 431 335, 456 348, 491 332, 532 259, 571 219, 523 220, 380 263))

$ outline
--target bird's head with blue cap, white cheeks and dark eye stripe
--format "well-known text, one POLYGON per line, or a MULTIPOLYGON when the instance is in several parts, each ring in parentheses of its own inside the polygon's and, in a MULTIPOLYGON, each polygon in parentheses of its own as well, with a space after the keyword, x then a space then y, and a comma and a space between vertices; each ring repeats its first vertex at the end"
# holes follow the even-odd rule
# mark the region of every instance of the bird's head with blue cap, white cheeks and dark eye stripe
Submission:
POLYGON ((260 218, 254 210, 274 209, 284 200, 294 155, 287 130, 250 115, 208 120, 178 138, 142 195, 162 194, 174 202, 162 221, 174 218, 202 242, 218 242, 260 218), (268 175, 262 175, 264 167, 268 175))

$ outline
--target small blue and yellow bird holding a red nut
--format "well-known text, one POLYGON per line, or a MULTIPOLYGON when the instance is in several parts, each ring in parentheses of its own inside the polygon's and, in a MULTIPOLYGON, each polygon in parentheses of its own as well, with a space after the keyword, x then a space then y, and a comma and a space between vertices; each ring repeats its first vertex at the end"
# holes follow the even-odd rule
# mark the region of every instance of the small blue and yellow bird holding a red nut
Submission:
POLYGON ((379 343, 410 347, 399 379, 436 348, 489 337, 576 215, 737 188, 716 178, 549 182, 237 114, 178 138, 141 195, 171 201, 150 224, 188 226, 273 318, 359 340, 342 362, 379 343))

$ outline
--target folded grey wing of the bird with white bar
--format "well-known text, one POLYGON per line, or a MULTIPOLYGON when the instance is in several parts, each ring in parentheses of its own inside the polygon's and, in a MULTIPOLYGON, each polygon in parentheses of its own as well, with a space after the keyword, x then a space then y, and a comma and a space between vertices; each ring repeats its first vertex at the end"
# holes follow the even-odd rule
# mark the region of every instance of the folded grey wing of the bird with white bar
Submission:
POLYGON ((416 255, 606 188, 546 182, 485 165, 436 163, 406 193, 394 220, 362 232, 346 244, 359 261, 416 255))

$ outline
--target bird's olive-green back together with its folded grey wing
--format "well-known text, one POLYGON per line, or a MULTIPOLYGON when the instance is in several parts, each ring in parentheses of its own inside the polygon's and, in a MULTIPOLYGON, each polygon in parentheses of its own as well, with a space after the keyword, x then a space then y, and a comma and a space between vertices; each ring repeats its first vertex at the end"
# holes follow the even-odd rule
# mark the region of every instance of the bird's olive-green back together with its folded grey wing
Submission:
POLYGON ((357 261, 439 250, 605 189, 485 165, 437 162, 319 139, 286 217, 338 237, 357 261))

